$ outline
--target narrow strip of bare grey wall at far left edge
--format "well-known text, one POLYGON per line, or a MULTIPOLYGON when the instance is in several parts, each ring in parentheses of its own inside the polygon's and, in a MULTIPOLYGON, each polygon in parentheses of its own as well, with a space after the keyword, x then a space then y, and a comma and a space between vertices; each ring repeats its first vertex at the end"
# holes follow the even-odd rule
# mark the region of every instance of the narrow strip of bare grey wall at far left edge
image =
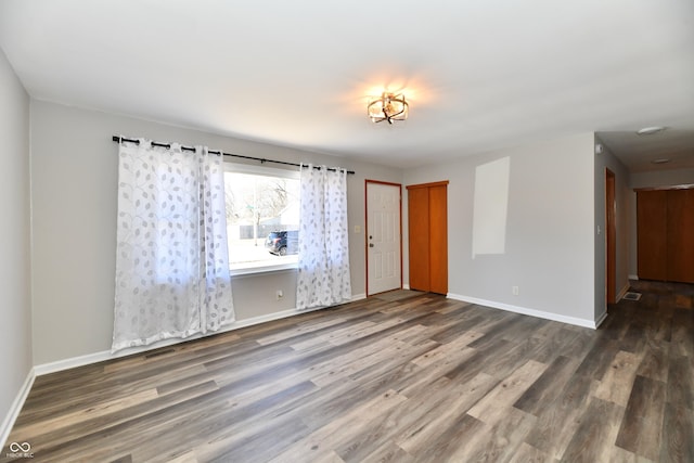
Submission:
MULTIPOLYGON (((31 371, 29 97, 0 49, 0 446, 31 371)), ((4 447, 2 448, 4 451, 4 447)))

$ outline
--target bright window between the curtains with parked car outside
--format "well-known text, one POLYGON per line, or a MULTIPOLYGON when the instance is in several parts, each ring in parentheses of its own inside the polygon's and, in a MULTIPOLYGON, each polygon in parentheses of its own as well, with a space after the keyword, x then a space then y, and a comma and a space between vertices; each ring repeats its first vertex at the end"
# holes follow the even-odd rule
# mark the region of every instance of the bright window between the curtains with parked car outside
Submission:
POLYGON ((295 268, 299 172, 226 164, 224 193, 232 272, 295 268))

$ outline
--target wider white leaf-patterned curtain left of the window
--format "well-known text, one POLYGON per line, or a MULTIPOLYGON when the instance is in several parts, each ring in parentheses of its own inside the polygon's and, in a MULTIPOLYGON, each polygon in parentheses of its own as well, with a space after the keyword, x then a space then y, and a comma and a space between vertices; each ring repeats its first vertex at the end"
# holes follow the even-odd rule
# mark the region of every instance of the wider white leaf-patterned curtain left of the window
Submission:
POLYGON ((221 156, 119 146, 112 351, 233 322, 221 156))

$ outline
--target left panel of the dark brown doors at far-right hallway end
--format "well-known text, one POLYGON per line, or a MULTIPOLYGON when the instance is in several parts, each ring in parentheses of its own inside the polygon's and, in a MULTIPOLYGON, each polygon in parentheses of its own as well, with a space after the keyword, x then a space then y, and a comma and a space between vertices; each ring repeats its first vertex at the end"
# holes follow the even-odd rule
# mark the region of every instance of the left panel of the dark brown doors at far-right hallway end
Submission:
POLYGON ((666 281, 667 191, 637 192, 639 279, 666 281))

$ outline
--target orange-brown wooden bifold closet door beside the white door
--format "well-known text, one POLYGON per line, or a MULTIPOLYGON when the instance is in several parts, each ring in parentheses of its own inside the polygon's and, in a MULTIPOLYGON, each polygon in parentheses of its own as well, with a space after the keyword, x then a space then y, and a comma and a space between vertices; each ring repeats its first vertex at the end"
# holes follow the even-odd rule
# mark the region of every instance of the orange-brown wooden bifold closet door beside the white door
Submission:
POLYGON ((410 288, 448 293, 448 182, 408 187, 410 288))

